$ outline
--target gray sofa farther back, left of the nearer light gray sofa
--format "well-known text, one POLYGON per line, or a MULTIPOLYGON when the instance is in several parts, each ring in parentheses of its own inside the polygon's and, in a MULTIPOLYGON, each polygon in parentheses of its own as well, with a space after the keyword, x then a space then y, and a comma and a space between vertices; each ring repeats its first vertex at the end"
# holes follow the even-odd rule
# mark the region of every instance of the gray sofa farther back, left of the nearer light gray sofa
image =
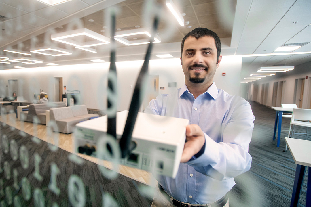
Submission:
POLYGON ((39 119, 39 124, 46 124, 46 110, 53 108, 64 107, 64 102, 49 102, 41 104, 30 104, 28 111, 21 112, 21 120, 33 122, 34 117, 39 119))

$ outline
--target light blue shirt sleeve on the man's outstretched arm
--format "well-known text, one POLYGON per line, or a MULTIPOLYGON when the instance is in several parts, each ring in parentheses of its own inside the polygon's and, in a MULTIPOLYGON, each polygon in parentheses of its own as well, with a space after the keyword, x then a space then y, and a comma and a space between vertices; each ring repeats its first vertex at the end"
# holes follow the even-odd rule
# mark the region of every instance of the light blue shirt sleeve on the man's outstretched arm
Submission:
POLYGON ((252 138, 253 116, 247 101, 239 100, 228 113, 229 120, 222 131, 223 142, 215 142, 206 133, 205 149, 199 157, 187 162, 200 173, 217 180, 225 180, 238 176, 251 167, 252 157, 248 153, 248 145, 252 138))

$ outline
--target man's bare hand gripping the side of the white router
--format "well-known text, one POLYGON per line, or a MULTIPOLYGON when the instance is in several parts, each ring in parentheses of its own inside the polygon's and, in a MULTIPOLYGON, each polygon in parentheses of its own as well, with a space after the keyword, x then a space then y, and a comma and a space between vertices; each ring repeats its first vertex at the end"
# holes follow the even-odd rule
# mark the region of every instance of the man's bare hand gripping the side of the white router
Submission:
POLYGON ((183 147, 181 163, 188 162, 193 155, 197 154, 205 143, 202 129, 197 124, 190 124, 186 127, 186 143, 183 147))

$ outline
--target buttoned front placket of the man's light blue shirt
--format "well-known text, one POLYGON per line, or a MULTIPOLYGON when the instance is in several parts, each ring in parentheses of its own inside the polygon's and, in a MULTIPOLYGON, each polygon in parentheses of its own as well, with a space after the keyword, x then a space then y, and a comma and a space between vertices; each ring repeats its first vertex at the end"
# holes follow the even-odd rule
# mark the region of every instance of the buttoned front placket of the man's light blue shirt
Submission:
MULTIPOLYGON (((201 98, 202 96, 198 96, 193 102, 190 124, 199 124, 201 98)), ((190 167, 189 165, 187 181, 187 202, 195 203, 196 171, 193 167, 190 167)))

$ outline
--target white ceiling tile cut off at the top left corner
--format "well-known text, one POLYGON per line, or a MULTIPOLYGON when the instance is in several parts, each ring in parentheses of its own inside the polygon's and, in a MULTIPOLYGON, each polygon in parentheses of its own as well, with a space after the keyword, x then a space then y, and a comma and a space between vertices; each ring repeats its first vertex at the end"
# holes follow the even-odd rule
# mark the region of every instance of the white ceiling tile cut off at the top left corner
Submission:
POLYGON ((17 9, 26 11, 26 12, 32 12, 39 9, 42 9, 44 7, 48 7, 48 5, 44 4, 43 2, 39 2, 37 0, 1 0, 2 3, 5 3, 7 5, 10 5, 12 7, 16 7, 17 9))

